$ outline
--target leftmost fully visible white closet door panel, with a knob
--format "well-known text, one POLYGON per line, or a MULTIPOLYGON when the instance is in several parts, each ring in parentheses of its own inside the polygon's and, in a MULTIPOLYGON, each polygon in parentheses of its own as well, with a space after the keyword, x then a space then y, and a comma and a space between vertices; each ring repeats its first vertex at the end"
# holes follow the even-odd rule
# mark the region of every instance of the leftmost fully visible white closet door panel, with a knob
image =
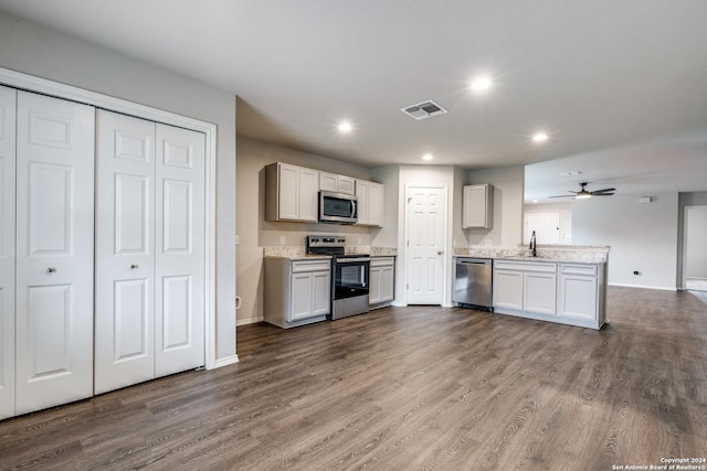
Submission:
POLYGON ((18 93, 17 414, 93 394, 94 116, 18 93))

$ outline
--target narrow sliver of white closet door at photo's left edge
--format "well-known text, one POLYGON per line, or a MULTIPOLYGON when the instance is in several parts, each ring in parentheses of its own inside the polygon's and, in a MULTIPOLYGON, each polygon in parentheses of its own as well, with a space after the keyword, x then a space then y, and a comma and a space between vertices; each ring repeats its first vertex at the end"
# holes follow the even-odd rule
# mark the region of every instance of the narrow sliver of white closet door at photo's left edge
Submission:
POLYGON ((14 116, 0 86, 0 419, 14 415, 14 116))

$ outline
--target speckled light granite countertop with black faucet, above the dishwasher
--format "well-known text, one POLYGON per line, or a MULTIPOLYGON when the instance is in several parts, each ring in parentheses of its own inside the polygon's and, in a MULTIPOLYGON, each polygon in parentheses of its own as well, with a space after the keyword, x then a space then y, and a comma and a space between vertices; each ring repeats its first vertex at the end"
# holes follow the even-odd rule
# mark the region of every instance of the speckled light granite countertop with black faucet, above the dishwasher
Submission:
POLYGON ((475 245, 468 248, 455 248, 455 257, 494 258, 499 260, 523 261, 564 261, 574 264, 605 264, 609 261, 609 247, 555 245, 537 248, 537 257, 532 257, 530 249, 523 247, 500 247, 475 245))

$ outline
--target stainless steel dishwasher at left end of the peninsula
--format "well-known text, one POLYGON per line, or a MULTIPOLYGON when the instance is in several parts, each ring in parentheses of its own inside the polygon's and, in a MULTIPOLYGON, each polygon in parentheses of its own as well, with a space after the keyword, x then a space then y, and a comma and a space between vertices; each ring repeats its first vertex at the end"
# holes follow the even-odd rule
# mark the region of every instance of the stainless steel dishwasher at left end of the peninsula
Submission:
POLYGON ((456 257, 454 303, 493 311, 493 267, 490 258, 456 257))

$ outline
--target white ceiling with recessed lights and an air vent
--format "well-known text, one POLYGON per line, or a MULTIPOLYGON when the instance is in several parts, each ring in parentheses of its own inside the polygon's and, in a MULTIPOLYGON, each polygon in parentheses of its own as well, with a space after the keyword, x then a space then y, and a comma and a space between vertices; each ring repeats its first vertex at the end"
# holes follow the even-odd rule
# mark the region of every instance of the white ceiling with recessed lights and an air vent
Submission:
POLYGON ((366 167, 422 163, 425 152, 469 169, 534 164, 528 200, 579 181, 707 190, 704 0, 0 0, 0 10, 232 90, 240 136, 366 167), (468 89, 477 74, 493 77, 488 93, 468 89), (400 111, 426 99, 450 113, 400 111), (341 119, 349 135, 336 131, 341 119), (531 142, 538 130, 550 139, 531 142), (582 174, 558 174, 569 170, 582 174))

